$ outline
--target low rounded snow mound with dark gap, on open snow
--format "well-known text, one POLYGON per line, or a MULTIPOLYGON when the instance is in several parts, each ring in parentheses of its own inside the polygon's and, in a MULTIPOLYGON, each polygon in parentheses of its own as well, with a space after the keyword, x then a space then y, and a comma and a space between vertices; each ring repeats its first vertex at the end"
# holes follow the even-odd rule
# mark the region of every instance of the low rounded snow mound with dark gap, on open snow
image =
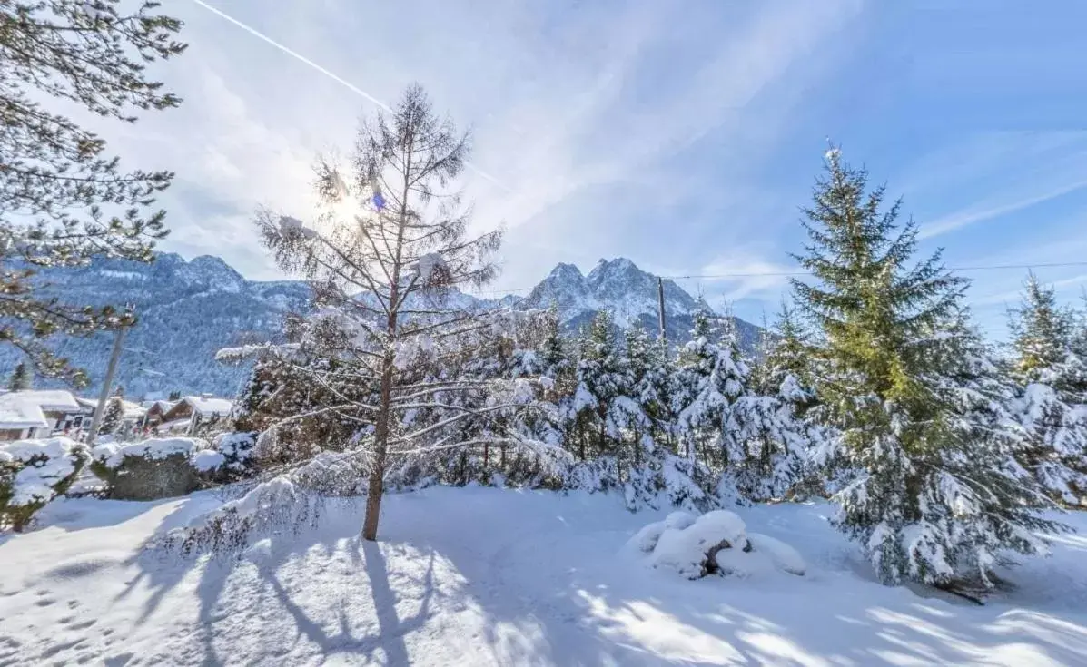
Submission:
POLYGON ((807 566, 788 544, 769 536, 747 531, 739 516, 725 509, 696 518, 673 512, 663 521, 649 524, 627 542, 636 553, 647 554, 657 569, 687 579, 708 575, 750 576, 782 570, 802 576, 807 566))

